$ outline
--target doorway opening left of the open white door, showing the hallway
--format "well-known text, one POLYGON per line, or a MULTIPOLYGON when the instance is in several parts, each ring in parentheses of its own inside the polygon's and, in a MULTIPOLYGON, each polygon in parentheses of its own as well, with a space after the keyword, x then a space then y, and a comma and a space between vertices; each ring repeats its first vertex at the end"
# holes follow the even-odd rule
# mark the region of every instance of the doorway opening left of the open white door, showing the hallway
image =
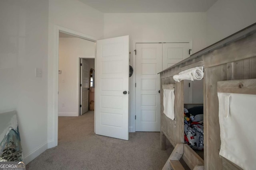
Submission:
POLYGON ((60 142, 68 139, 66 133, 63 133, 66 128, 65 122, 83 121, 82 124, 90 124, 91 128, 94 128, 92 123, 94 109, 91 109, 87 117, 80 115, 89 111, 89 99, 94 101, 96 43, 61 31, 58 42, 58 141, 60 142))

